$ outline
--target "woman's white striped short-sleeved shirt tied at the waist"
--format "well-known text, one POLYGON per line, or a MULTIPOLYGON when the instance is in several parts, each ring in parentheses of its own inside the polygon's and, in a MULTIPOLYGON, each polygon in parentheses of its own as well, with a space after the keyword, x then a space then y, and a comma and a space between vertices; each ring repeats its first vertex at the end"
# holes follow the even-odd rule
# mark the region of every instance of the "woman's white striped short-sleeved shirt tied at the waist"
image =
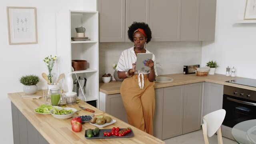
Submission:
MULTIPOLYGON (((151 53, 146 49, 146 53, 151 53)), ((126 70, 132 69, 132 64, 135 63, 137 60, 137 56, 134 52, 134 47, 132 48, 128 48, 126 50, 124 50, 119 58, 118 64, 116 66, 116 70, 120 71, 120 72, 124 72, 126 70)), ((153 54, 152 56, 152 60, 154 61, 154 70, 155 70, 155 74, 157 76, 157 72, 156 72, 156 58, 155 55, 153 54)), ((143 74, 149 74, 150 70, 137 70, 134 72, 134 74, 142 74, 142 86, 140 84, 140 78, 139 78, 139 85, 140 88, 143 89, 144 87, 144 80, 143 80, 143 74)))

